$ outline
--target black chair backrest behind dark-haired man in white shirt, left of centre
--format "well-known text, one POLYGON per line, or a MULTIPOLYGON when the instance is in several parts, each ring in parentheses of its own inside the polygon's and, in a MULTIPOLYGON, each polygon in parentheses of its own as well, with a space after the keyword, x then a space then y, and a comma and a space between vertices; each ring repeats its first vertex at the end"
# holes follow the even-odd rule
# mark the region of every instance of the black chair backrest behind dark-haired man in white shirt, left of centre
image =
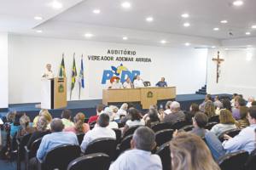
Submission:
POLYGON ((116 140, 112 138, 95 139, 88 144, 84 150, 84 155, 101 152, 107 154, 113 160, 116 145, 116 140))

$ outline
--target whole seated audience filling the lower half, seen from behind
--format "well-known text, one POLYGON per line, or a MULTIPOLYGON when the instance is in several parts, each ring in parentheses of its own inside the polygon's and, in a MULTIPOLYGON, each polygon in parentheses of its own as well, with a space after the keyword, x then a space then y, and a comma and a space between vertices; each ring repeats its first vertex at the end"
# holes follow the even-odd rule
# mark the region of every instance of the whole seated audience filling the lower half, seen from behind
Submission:
MULTIPOLYGON (((146 114, 142 114, 133 105, 124 103, 96 106, 96 115, 90 116, 84 122, 85 115, 77 113, 72 118, 72 112, 64 110, 60 118, 52 118, 47 110, 39 112, 33 121, 26 114, 10 112, 7 120, 10 123, 10 139, 20 139, 27 133, 32 133, 26 146, 30 148, 33 141, 43 137, 37 156, 32 158, 31 166, 37 160, 43 160, 46 153, 60 144, 79 144, 76 133, 85 133, 80 144, 84 152, 90 142, 100 138, 116 139, 113 128, 125 133, 130 127, 140 125, 131 139, 131 150, 125 151, 109 169, 162 169, 160 156, 152 154, 155 149, 155 133, 151 129, 160 122, 174 124, 184 121, 193 125, 192 130, 185 132, 176 130, 170 142, 173 169, 219 169, 216 161, 219 157, 237 150, 251 153, 255 150, 256 101, 247 101, 242 95, 234 94, 228 98, 212 99, 206 95, 201 105, 190 105, 189 111, 182 111, 177 101, 168 101, 165 109, 151 105, 146 114), (219 122, 207 129, 207 122, 212 116, 218 116, 219 122), (123 124, 123 127, 119 127, 123 124), (93 127, 93 128, 92 128, 93 127), (224 134, 224 142, 218 137, 231 129, 241 129, 235 137, 224 134), (196 149, 196 150, 195 150, 196 149)), ((8 151, 5 153, 8 154, 8 151)))

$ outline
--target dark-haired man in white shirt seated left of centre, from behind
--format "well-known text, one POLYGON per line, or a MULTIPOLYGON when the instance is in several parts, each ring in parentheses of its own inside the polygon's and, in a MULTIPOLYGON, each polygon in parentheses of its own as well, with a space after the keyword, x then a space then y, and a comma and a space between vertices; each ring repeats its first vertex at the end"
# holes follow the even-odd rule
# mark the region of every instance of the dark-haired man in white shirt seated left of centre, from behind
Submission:
POLYGON ((115 133, 112 129, 108 128, 109 116, 105 113, 102 113, 97 119, 97 126, 94 127, 89 132, 85 133, 84 140, 81 144, 81 150, 84 152, 90 144, 95 139, 99 138, 113 138, 116 139, 115 133))

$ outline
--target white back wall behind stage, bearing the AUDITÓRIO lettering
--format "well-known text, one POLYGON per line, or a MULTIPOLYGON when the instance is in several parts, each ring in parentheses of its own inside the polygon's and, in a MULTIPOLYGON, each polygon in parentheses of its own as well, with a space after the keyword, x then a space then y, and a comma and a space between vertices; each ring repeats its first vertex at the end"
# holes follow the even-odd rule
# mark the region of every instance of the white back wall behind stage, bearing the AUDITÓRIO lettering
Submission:
MULTIPOLYGON (((51 63, 58 75, 61 54, 65 53, 67 71, 67 96, 70 93, 73 53, 79 71, 80 55, 84 54, 85 88, 81 99, 102 99, 102 71, 111 65, 123 63, 129 70, 139 70, 143 80, 153 84, 166 77, 170 86, 177 87, 177 94, 194 94, 206 82, 207 49, 150 47, 131 44, 89 42, 42 37, 9 36, 9 103, 40 101, 40 80, 44 65, 51 63), (108 49, 136 50, 137 57, 149 57, 151 63, 91 61, 87 55, 107 55, 108 49)), ((119 56, 119 55, 114 55, 119 56)), ((79 84, 73 91, 78 99, 79 84)), ((69 99, 69 97, 68 97, 69 99)))

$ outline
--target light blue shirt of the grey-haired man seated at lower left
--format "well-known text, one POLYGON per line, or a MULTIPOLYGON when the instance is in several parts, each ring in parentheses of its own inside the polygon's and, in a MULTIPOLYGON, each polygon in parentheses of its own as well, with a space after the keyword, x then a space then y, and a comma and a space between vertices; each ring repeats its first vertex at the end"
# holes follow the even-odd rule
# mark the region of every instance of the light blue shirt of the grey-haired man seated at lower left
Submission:
POLYGON ((79 141, 76 134, 72 132, 59 132, 59 133, 46 134, 44 135, 37 152, 38 160, 43 161, 44 156, 49 150, 61 144, 79 145, 79 141))

